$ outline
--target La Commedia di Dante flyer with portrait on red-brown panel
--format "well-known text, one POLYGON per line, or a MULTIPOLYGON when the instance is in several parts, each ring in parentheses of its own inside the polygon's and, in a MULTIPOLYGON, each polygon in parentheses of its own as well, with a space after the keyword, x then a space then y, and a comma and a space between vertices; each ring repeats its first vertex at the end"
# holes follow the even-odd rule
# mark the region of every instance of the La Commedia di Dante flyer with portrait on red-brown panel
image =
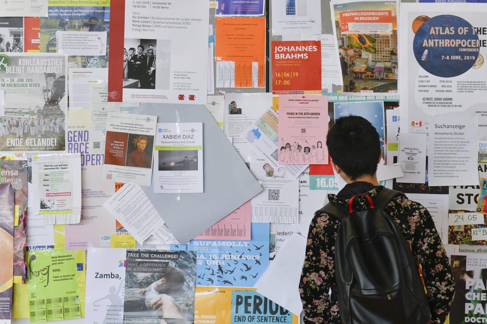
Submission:
POLYGON ((156 116, 109 113, 103 180, 150 186, 156 116))

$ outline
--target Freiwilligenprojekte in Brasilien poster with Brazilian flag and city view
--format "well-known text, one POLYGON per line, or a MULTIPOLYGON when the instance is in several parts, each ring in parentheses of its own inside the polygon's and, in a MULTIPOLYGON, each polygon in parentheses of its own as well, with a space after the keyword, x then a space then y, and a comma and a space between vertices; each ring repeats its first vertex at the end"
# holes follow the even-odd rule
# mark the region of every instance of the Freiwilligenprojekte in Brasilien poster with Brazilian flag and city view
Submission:
MULTIPOLYGON (((343 91, 371 95, 375 92, 397 92, 396 5, 396 0, 330 2, 343 91)), ((409 68, 405 64, 401 66, 409 68)))

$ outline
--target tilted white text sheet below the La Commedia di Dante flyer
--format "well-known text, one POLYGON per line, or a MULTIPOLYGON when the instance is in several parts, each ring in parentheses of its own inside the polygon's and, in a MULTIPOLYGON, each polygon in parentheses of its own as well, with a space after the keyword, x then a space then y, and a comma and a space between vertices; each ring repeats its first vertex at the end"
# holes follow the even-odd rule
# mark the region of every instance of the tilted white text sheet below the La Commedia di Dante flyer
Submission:
MULTIPOLYGON (((125 184, 103 204, 137 242, 142 244, 154 232, 164 227, 164 220, 155 210, 140 186, 125 184)), ((168 240, 169 237, 166 239, 168 240)))

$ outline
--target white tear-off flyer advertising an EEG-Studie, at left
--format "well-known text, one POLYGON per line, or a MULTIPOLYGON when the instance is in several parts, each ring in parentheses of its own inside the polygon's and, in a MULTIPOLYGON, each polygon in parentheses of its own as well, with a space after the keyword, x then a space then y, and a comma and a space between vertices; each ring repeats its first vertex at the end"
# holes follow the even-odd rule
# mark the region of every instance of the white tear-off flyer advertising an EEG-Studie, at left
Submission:
POLYGON ((40 155, 32 161, 34 207, 44 224, 81 220, 81 154, 40 155))

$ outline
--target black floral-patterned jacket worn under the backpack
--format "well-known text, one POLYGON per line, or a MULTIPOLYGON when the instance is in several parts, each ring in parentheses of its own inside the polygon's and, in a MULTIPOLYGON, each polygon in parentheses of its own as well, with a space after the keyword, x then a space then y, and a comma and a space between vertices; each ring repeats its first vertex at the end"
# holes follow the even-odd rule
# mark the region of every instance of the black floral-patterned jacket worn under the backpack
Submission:
MULTIPOLYGON (((346 185, 338 195, 329 194, 328 200, 347 205, 348 200, 357 193, 366 193, 375 198, 383 188, 366 182, 354 182, 346 185)), ((356 197, 353 205, 354 210, 369 207, 364 196, 356 197)), ((416 263, 422 266, 431 310, 428 323, 443 324, 453 300, 455 283, 430 213, 422 205, 403 196, 394 198, 384 210, 397 223, 412 249, 416 263)), ((338 218, 319 211, 311 221, 299 287, 305 324, 341 323, 337 303, 331 300, 329 294, 331 285, 336 290, 333 258, 339 224, 338 218)))

